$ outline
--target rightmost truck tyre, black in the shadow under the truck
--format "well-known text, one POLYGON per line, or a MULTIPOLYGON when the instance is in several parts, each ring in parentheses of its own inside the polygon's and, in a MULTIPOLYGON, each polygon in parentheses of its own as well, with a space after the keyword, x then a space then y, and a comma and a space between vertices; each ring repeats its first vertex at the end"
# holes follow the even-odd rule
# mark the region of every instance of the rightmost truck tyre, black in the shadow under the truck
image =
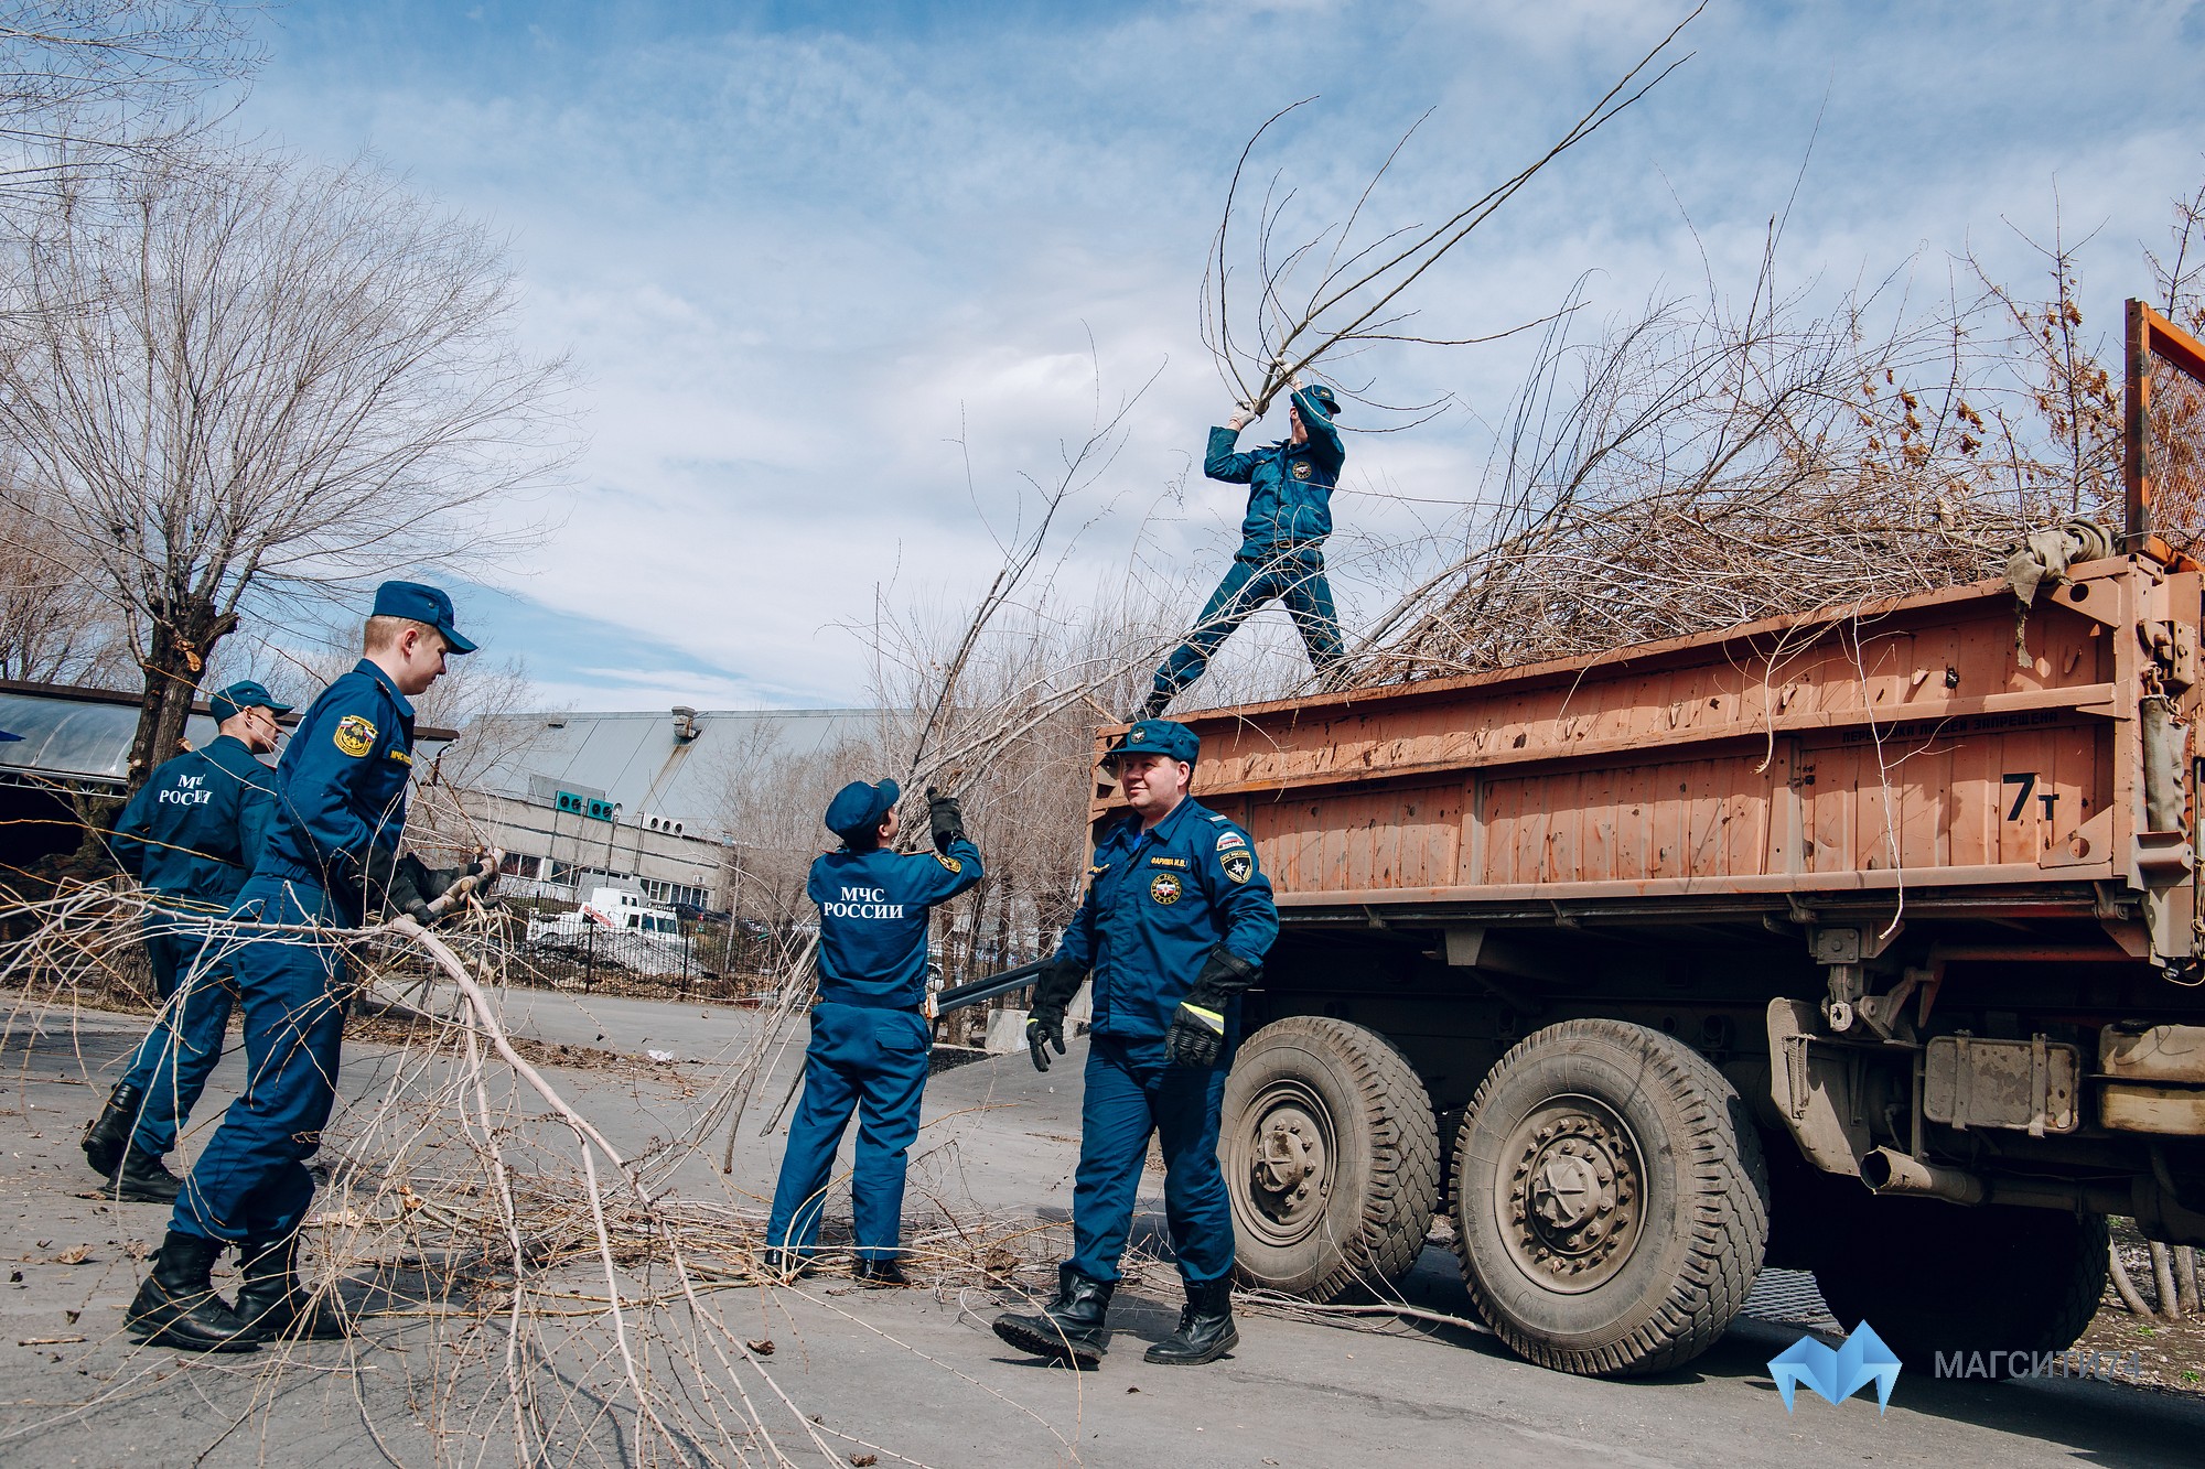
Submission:
MULTIPOLYGON (((2106 1295, 2106 1218, 2015 1204, 1874 1198, 1846 1209, 1815 1284, 1850 1332, 1861 1321, 1907 1368, 1971 1359, 2007 1376, 2007 1352, 2064 1352, 2106 1295), (1996 1357, 1993 1357, 1996 1354, 1996 1357)), ((1967 1370, 1967 1368, 1962 1368, 1967 1370)))

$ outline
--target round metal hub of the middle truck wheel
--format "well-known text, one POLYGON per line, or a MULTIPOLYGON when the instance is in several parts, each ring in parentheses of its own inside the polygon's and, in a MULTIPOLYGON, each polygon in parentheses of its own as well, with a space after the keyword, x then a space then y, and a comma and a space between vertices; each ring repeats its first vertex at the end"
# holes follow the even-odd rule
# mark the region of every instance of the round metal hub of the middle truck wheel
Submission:
POLYGON ((1577 1295, 1616 1275, 1638 1244, 1645 1193, 1638 1143, 1590 1096, 1557 1096, 1517 1127, 1497 1195, 1517 1266, 1548 1290, 1577 1295))

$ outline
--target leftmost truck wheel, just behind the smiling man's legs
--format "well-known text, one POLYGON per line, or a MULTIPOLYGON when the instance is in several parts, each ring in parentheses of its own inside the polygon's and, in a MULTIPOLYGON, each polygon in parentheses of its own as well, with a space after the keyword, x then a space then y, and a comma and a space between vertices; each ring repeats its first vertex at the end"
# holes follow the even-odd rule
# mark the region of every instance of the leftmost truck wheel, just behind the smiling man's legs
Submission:
POLYGON ((1396 1279, 1440 1207, 1424 1083, 1383 1034, 1323 1015, 1239 1048, 1217 1156, 1244 1286, 1336 1301, 1396 1279))

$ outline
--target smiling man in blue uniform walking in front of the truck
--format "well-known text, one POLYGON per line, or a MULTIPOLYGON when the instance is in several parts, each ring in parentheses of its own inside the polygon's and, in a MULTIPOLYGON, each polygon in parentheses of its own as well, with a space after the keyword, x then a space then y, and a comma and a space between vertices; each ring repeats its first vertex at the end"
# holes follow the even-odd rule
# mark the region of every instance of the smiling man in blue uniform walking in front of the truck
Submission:
POLYGON ((1239 1343, 1233 1328, 1233 1209, 1217 1169, 1217 1118, 1239 1043, 1239 997, 1279 937, 1270 878, 1248 834, 1188 798, 1200 741, 1142 719, 1109 752, 1129 816, 1096 847, 1087 896, 1034 984, 1025 1041, 1050 1070, 1065 1054, 1065 1008, 1094 977, 1072 1191, 1072 1259, 1041 1312, 1003 1312, 1003 1341, 1091 1368, 1133 1226, 1153 1136, 1164 1154, 1164 1222, 1180 1257, 1180 1330, 1147 1361, 1200 1365, 1239 1343))

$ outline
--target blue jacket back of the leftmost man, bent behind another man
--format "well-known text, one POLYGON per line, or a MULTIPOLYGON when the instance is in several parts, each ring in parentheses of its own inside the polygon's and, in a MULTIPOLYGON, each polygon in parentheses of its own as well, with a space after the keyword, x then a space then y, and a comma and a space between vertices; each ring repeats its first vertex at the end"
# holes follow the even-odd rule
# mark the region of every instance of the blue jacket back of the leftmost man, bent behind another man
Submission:
POLYGON ((170 907, 227 911, 260 856, 276 776, 220 735, 154 768, 115 823, 115 860, 170 907))

